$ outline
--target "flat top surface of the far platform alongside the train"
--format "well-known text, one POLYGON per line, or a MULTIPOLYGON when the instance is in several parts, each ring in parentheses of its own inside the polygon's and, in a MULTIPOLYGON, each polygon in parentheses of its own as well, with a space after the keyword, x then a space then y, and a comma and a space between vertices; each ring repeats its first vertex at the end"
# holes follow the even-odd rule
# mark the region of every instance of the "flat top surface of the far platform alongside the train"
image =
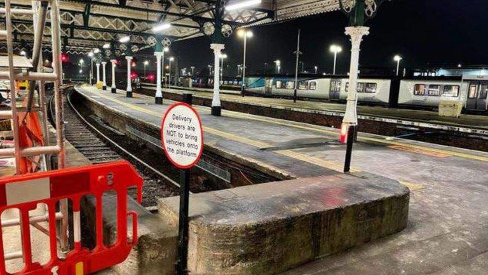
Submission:
MULTIPOLYGON (((143 88, 155 90, 154 87, 144 86, 143 88)), ((180 89, 163 89, 165 92, 171 93, 192 93, 199 97, 212 97, 212 92, 208 89, 201 88, 185 88, 185 90, 180 89), (186 90, 188 89, 188 90, 186 90)), ((279 99, 279 98, 265 98, 265 97, 255 97, 255 96, 245 96, 242 98, 240 92, 224 90, 220 94, 221 100, 229 100, 235 102, 245 102, 246 104, 262 105, 262 106, 275 106, 282 108, 294 108, 302 109, 308 111, 328 111, 328 112, 338 112, 343 114, 345 112, 345 103, 335 103, 335 102, 320 102, 320 101, 305 101, 298 100, 293 102, 290 99, 279 99)), ((386 108, 382 106, 367 106, 358 105, 357 114, 359 116, 373 116, 382 118, 393 118, 400 120, 412 120, 418 122, 425 122, 431 124, 440 124, 456 127, 472 127, 475 129, 488 130, 488 115, 474 115, 474 114, 461 114, 459 118, 454 117, 442 117, 438 115, 437 111, 429 110, 412 110, 412 109, 401 109, 401 108, 386 108)))

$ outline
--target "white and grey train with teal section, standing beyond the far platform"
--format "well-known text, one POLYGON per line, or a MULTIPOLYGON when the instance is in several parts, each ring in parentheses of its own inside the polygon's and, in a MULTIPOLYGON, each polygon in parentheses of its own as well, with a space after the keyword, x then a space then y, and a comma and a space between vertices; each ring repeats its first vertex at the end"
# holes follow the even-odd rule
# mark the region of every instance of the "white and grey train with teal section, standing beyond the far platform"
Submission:
MULTIPOLYGON (((256 95, 293 97, 293 76, 250 76, 245 90, 256 95)), ((345 101, 348 76, 298 76, 297 98, 345 101)), ((464 109, 486 112, 488 76, 385 78, 359 76, 357 101, 388 107, 437 108, 441 102, 460 102, 464 109)))

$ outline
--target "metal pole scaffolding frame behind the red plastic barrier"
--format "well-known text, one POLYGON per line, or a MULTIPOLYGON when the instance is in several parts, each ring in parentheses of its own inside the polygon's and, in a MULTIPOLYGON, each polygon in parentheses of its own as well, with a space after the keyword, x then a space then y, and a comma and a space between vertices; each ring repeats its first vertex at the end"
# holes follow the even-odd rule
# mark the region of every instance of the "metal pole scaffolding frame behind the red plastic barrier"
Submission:
MULTIPOLYGON (((63 124, 63 99, 60 90, 62 84, 62 68, 61 68, 61 41, 60 41, 60 14, 59 14, 59 0, 32 0, 31 9, 13 9, 10 5, 10 0, 4 1, 4 8, 0 8, 0 14, 5 15, 5 30, 0 30, 0 40, 6 41, 7 45, 7 71, 0 71, 0 80, 9 80, 10 93, 15 91, 15 81, 27 80, 29 81, 29 90, 27 94, 27 107, 25 110, 18 110, 16 106, 15 96, 11 96, 11 110, 0 111, 0 119, 11 119, 12 133, 13 133, 13 147, 0 148, 0 158, 14 157, 15 158, 15 172, 17 175, 21 174, 20 163, 22 158, 29 158, 38 156, 44 160, 44 168, 49 168, 48 156, 52 154, 57 155, 57 168, 65 167, 65 149, 64 149, 64 124, 63 124), (47 10, 50 8, 50 37, 52 47, 52 68, 50 73, 42 70, 42 41, 44 39, 44 28, 47 18, 47 10), (32 51, 32 59, 29 61, 30 66, 15 66, 13 53, 13 25, 12 15, 31 15, 34 26, 34 45, 32 51), (28 68, 26 68, 28 67, 28 68), (56 144, 49 145, 48 121, 47 121, 47 106, 44 84, 46 82, 53 82, 54 93, 54 112, 55 112, 55 130, 56 130, 56 144), (34 102, 34 87, 37 84, 39 92, 39 108, 33 108, 34 102), (42 139, 43 146, 32 146, 21 148, 19 143, 19 119, 18 112, 31 112, 40 110, 42 116, 42 139)), ((13 95, 13 94, 12 94, 13 95)), ((68 244, 68 221, 67 199, 59 201, 60 212, 56 213, 56 219, 61 220, 60 226, 60 244, 61 251, 67 252, 68 244)), ((45 210, 45 209, 44 209, 45 210)), ((47 220, 45 212, 41 216, 33 216, 29 218, 29 224, 43 233, 48 232, 37 222, 47 220)), ((1 222, 2 226, 17 225, 17 220, 5 220, 1 222)), ((19 224, 20 225, 20 224, 19 224)), ((20 225, 22 230, 22 226, 20 225)), ((24 257, 24 251, 17 251, 9 253, 11 256, 5 259, 14 259, 24 257)))

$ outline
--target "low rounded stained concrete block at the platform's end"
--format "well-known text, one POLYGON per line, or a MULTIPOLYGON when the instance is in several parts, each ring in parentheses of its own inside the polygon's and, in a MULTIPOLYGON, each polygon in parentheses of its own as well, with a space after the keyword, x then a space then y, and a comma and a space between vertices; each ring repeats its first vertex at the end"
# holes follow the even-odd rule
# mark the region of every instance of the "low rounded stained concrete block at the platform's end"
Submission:
MULTIPOLYGON (((331 175, 192 194, 188 268, 274 274, 406 227, 408 188, 379 176, 331 175)), ((177 221, 179 198, 159 200, 177 221)))

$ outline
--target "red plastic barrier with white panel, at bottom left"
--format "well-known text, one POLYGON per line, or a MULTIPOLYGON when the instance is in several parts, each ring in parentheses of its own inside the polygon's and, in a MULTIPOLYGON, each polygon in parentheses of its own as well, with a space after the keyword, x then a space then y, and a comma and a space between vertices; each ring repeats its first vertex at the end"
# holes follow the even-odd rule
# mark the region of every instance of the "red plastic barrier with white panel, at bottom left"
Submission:
MULTIPOLYGON (((126 259, 137 242, 137 214, 127 211, 127 188, 137 188, 137 200, 142 199, 142 178, 125 161, 100 165, 68 168, 56 171, 26 174, 0 179, 0 212, 18 208, 22 224, 21 239, 24 268, 23 274, 87 274, 95 272, 126 259), (32 192, 35 186, 35 192, 32 192), (114 244, 105 246, 102 241, 102 201, 104 192, 114 190, 117 196, 117 238, 114 244), (84 195, 96 199, 96 246, 88 250, 80 243, 79 201, 84 195), (56 202, 68 198, 73 208, 74 249, 65 259, 57 256, 56 202), (32 262, 30 247, 29 210, 45 203, 49 215, 50 260, 44 265, 32 262), (132 240, 127 240, 127 216, 132 216, 132 240)), ((1 230, 1 226, 0 226, 1 230)), ((32 229, 36 230, 36 229, 32 229)), ((0 274, 5 270, 3 240, 0 234, 0 274)))

